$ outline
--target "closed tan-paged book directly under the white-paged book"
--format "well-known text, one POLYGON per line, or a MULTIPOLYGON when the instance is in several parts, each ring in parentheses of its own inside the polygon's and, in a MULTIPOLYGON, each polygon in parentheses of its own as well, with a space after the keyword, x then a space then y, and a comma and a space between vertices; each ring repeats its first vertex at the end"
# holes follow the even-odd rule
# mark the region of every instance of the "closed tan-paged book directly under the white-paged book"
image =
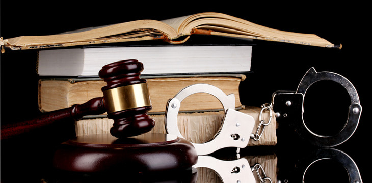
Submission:
MULTIPOLYGON (((152 110, 150 113, 164 113, 167 101, 181 89, 196 83, 214 85, 226 95, 235 95, 236 109, 242 108, 239 98, 239 85, 245 79, 244 74, 223 75, 176 75, 147 76, 152 110)), ((101 88, 106 83, 99 78, 64 79, 46 78, 39 80, 39 109, 54 111, 73 104, 82 104, 92 98, 102 97, 101 88)), ((221 110, 220 101, 205 93, 193 94, 182 101, 180 111, 221 110)))

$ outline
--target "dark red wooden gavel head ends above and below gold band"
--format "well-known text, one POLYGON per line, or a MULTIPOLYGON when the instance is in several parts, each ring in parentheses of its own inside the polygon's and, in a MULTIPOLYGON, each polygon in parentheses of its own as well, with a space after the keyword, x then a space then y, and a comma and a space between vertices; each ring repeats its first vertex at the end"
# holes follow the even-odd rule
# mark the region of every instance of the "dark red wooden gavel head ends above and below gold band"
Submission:
MULTIPOLYGON (((99 71, 99 77, 107 85, 102 87, 102 91, 146 83, 146 79, 140 78, 143 69, 143 64, 136 59, 122 60, 103 66, 99 71)), ((147 115, 147 112, 151 109, 152 106, 144 106, 109 113, 107 117, 114 120, 113 127, 110 130, 111 135, 120 138, 149 132, 155 126, 155 121, 147 115)))

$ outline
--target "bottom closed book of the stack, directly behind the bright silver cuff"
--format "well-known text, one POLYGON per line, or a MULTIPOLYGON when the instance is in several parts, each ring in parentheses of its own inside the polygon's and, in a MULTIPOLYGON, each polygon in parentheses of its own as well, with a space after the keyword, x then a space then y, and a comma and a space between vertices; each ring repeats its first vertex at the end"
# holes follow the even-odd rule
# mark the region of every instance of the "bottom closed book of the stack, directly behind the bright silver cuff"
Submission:
MULTIPOLYGON (((183 101, 182 101, 183 102, 183 101)), ((245 114, 251 115, 255 119, 255 129, 259 124, 258 115, 261 108, 246 107, 246 109, 239 110, 245 114)), ((155 120, 155 127, 151 132, 166 133, 164 126, 164 114, 150 115, 155 120)), ((177 116, 177 123, 182 136, 194 143, 203 143, 210 140, 218 132, 221 126, 224 112, 194 112, 194 113, 179 113, 177 116)), ((265 128, 265 131, 259 141, 249 140, 248 146, 256 145, 275 145, 277 143, 276 137, 276 121, 271 122, 265 128)), ((269 119, 269 112, 263 112, 263 119, 269 119)), ((82 119, 76 122, 76 135, 89 135, 110 133, 110 128, 113 121, 108 118, 96 119, 82 119)), ((253 133, 254 133, 253 132, 253 133)))

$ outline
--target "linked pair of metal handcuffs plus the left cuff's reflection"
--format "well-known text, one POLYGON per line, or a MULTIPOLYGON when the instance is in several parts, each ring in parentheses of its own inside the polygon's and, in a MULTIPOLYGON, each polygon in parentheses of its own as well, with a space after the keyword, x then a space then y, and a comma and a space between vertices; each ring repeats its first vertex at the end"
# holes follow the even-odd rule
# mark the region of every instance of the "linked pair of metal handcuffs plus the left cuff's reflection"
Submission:
MULTIPOLYGON (((225 147, 237 147, 238 153, 240 148, 245 148, 247 146, 248 141, 251 138, 254 140, 259 140, 260 136, 263 133, 264 127, 270 124, 271 117, 269 121, 259 119, 260 123, 256 130, 256 133, 252 133, 255 126, 254 118, 250 115, 234 110, 234 94, 226 95, 224 92, 222 92, 222 90, 212 85, 194 84, 183 88, 168 101, 165 114, 165 128, 168 134, 173 134, 180 138, 184 138, 178 129, 177 115, 182 100, 195 93, 207 93, 215 96, 221 102, 225 115, 219 131, 211 140, 200 144, 192 143, 198 154, 198 163, 194 167, 212 168, 212 164, 207 162, 214 162, 213 167, 215 167, 215 171, 220 175, 222 179, 227 176, 227 174, 229 176, 232 175, 232 173, 230 173, 229 171, 225 171, 225 168, 227 168, 239 170, 239 173, 233 174, 233 179, 236 180, 234 182, 255 181, 252 173, 252 171, 254 171, 254 168, 247 168, 249 167, 249 164, 246 159, 242 158, 227 162, 215 160, 214 158, 208 156, 208 154, 211 154, 225 147)), ((276 115, 285 116, 285 119, 283 120, 289 120, 298 135, 300 135, 303 139, 307 140, 311 144, 319 147, 333 147, 347 141, 355 132, 362 111, 356 89, 348 79, 333 72, 316 72, 314 68, 310 68, 306 72, 295 92, 275 92, 272 95, 272 102, 270 104, 263 105, 261 113, 263 110, 269 110, 270 116, 272 116, 274 106, 276 115), (339 83, 347 90, 351 98, 348 120, 342 130, 339 131, 339 133, 337 133, 336 135, 332 136, 318 135, 312 132, 305 125, 303 118, 303 102, 306 91, 313 83, 322 80, 331 80, 339 83)), ((257 168, 256 171, 258 173, 257 168)), ((272 180, 268 177, 265 177, 265 175, 263 176, 263 178, 261 178, 261 176, 259 177, 261 179, 261 182, 263 182, 263 180, 269 180, 270 182, 272 182, 272 180)))

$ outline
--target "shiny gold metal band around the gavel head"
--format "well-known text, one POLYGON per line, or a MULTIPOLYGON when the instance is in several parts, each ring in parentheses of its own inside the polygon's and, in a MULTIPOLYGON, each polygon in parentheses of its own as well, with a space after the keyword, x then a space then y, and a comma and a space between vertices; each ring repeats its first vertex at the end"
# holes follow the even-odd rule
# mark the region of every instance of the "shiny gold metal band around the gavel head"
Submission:
POLYGON ((151 106, 147 83, 121 86, 103 91, 107 113, 151 106))

